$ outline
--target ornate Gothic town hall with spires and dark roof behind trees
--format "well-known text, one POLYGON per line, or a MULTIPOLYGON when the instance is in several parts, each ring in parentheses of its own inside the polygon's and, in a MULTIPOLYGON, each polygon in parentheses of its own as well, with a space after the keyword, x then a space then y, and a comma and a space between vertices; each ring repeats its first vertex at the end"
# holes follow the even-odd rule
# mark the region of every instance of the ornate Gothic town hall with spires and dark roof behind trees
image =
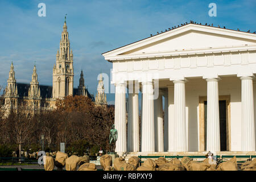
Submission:
POLYGON ((81 72, 79 87, 73 88, 73 53, 70 49, 68 38, 67 23, 64 22, 63 32, 61 33, 60 49, 56 54, 56 63, 53 66, 52 86, 39 85, 36 66, 32 71, 30 84, 16 82, 14 65, 11 63, 7 86, 3 92, 6 114, 11 109, 23 109, 27 113, 38 113, 40 111, 53 110, 57 99, 63 99, 65 96, 87 96, 94 101, 84 86, 84 75, 81 72))

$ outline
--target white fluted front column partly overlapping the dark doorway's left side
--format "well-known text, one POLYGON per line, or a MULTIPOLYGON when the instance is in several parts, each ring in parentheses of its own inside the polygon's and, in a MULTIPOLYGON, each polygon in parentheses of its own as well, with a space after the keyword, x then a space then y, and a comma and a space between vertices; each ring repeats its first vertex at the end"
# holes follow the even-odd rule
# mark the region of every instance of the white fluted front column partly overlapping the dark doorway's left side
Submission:
POLYGON ((220 151, 218 78, 207 78, 207 151, 220 151))

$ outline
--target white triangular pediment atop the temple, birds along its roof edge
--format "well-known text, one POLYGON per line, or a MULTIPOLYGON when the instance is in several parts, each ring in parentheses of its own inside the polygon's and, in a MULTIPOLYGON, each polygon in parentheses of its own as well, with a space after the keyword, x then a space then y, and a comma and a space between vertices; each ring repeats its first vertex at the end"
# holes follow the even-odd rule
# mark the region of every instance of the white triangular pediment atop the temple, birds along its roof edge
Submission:
POLYGON ((162 34, 103 53, 113 56, 141 55, 160 52, 191 51, 209 48, 255 46, 256 34, 218 27, 187 24, 162 34))

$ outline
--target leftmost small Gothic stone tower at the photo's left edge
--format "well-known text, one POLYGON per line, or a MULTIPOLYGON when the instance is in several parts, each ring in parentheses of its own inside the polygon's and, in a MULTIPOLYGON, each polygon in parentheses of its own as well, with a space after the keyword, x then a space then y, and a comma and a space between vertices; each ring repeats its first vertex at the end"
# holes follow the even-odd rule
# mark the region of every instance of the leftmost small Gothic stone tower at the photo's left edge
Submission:
POLYGON ((15 107, 18 105, 18 87, 15 79, 15 72, 13 62, 9 72, 9 78, 7 80, 7 86, 5 89, 5 106, 15 107))

